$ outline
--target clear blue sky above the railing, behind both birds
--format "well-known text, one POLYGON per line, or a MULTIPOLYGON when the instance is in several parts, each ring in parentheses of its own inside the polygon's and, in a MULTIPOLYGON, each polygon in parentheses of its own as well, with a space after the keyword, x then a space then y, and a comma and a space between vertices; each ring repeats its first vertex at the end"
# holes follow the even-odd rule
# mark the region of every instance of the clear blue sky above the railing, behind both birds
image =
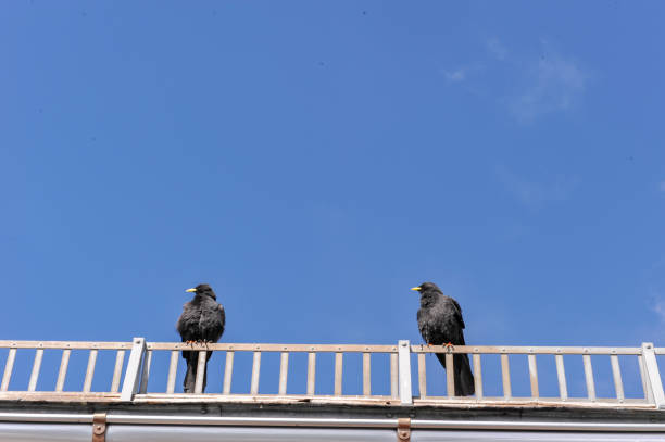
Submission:
POLYGON ((661 2, 2 4, 2 339, 663 344, 661 2))

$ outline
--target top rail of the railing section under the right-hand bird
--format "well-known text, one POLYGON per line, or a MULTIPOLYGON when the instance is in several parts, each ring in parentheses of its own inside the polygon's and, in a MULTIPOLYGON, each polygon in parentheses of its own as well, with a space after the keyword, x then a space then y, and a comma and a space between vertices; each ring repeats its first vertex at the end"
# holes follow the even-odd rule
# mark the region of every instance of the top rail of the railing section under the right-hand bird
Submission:
MULTIPOLYGON (((658 349, 656 349, 658 350, 658 349)), ((665 349, 663 354, 665 354, 665 349)), ((411 345, 412 353, 639 355, 639 346, 411 345)), ((657 352, 656 352, 657 353, 657 352)), ((660 354, 660 353, 657 353, 660 354)))

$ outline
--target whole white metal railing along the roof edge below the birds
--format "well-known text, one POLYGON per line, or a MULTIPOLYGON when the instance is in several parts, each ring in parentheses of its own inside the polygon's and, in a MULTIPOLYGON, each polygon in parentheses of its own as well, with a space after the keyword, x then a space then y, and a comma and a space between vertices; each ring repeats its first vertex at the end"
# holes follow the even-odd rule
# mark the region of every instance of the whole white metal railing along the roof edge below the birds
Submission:
MULTIPOLYGON (((195 387, 195 394, 201 393, 203 389, 203 367, 206 363, 208 352, 223 352, 225 354, 224 375, 221 393, 206 393, 202 397, 205 400, 215 401, 231 401, 231 400, 251 400, 269 401, 279 399, 288 400, 316 400, 321 402, 373 402, 377 404, 403 404, 403 405, 431 405, 431 404, 454 404, 454 403, 476 403, 482 405, 505 405, 526 403, 531 405, 551 404, 551 403, 567 403, 576 405, 601 406, 611 404, 613 406, 639 406, 639 407, 656 407, 665 408, 665 394, 658 371, 657 355, 665 355, 665 348, 656 349, 651 343, 643 343, 636 348, 611 348, 611 346, 476 346, 476 345, 460 345, 454 348, 444 348, 441 345, 411 345, 409 341, 399 341, 398 345, 362 345, 362 344, 265 344, 265 343, 216 343, 216 344, 186 344, 181 342, 146 342, 143 338, 135 338, 131 342, 74 342, 74 341, 0 341, 0 350, 7 349, 7 358, 4 363, 4 372, 0 383, 0 400, 53 400, 59 401, 67 395, 85 396, 88 400, 93 400, 95 396, 102 397, 104 401, 140 401, 141 397, 150 396, 151 400, 162 399, 164 401, 177 401, 179 399, 191 399, 192 396, 184 393, 176 393, 176 376, 178 372, 178 363, 180 352, 197 351, 198 370, 195 387), (12 376, 14 372, 15 361, 18 350, 34 350, 32 359, 32 370, 27 380, 26 389, 10 389, 12 376), (58 352, 60 354, 60 365, 58 376, 53 386, 53 390, 38 390, 37 383, 42 369, 42 359, 45 351, 58 352), (125 364, 125 354, 129 351, 129 358, 125 364), (85 377, 80 383, 79 391, 64 391, 65 379, 67 377, 67 368, 70 365, 70 356, 72 352, 87 352, 88 362, 85 370, 85 377), (99 352, 115 352, 115 363, 113 365, 109 379, 109 389, 102 392, 91 391, 92 379, 96 372, 97 359, 99 352), (153 354, 155 352, 168 352, 168 366, 165 386, 156 388, 156 393, 148 392, 148 384, 151 382, 154 390, 154 381, 151 381, 150 375, 153 368, 153 354), (231 393, 231 383, 234 381, 234 361, 237 353, 249 353, 252 355, 251 371, 242 374, 247 378, 249 375, 250 388, 247 393, 231 393), (261 361, 264 353, 279 354, 278 369, 278 388, 276 394, 260 393, 261 380, 261 361), (292 394, 288 391, 288 374, 289 374, 289 356, 293 353, 306 354, 306 389, 304 394, 292 394), (344 395, 342 394, 342 379, 344 372, 344 355, 346 354, 362 355, 362 375, 360 386, 362 386, 362 394, 344 395), (426 355, 428 353, 446 354, 446 395, 430 395, 427 388, 427 364, 426 355), (475 390, 474 396, 461 397, 455 396, 454 392, 454 367, 453 355, 465 353, 470 356, 475 390), (317 361, 321 361, 322 354, 334 355, 332 368, 332 389, 327 394, 316 391, 316 368, 317 361), (381 369, 389 374, 389 394, 376 394, 372 389, 372 361, 377 354, 388 355, 386 366, 381 369), (487 376, 484 377, 484 358, 490 355, 499 356, 501 371, 501 390, 500 396, 488 396, 485 394, 486 387, 495 388, 498 386, 488 386, 487 376), (513 357, 526 357, 528 369, 523 372, 525 379, 528 379, 530 394, 516 395, 513 393, 513 382, 511 377, 510 355, 513 357), (556 372, 556 383, 559 395, 555 397, 547 397, 541 395, 541 381, 539 380, 539 371, 537 366, 537 356, 553 357, 556 372), (586 386, 586 396, 578 397, 568 394, 568 379, 564 365, 564 356, 580 357, 584 366, 584 383, 586 386), (608 363, 612 372, 612 383, 614 386, 614 396, 601 397, 597 394, 597 376, 594 376, 592 356, 608 356, 608 363), (627 397, 624 392, 624 375, 619 364, 622 358, 637 358, 639 366, 639 379, 631 379, 631 382, 638 382, 643 391, 643 397, 627 397), (412 359, 416 361, 417 374, 417 391, 418 395, 414 396, 412 389, 412 359), (122 390, 121 379, 124 378, 122 390)), ((432 359, 435 361, 435 359, 432 359)), ((436 362, 438 365, 438 362, 436 362)), ((165 368, 165 367, 161 367, 165 368)), ((441 368, 436 367, 441 376, 441 368)), ((221 367, 209 363, 209 372, 211 370, 221 370, 221 367)), ((497 375, 497 374, 494 374, 497 375)), ((236 377, 239 376, 236 374, 236 377)), ((602 380, 607 381, 606 379, 602 380)), ((14 382, 16 383, 16 382, 14 382)))

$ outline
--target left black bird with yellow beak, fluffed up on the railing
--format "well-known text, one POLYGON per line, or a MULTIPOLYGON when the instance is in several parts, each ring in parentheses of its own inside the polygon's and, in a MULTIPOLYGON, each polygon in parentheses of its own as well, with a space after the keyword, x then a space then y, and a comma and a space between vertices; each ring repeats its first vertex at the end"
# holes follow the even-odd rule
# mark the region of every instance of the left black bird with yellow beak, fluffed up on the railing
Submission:
MULTIPOLYGON (((206 283, 200 283, 186 292, 196 293, 193 299, 183 305, 183 314, 178 318, 176 328, 183 342, 217 342, 224 333, 224 323, 226 316, 224 307, 217 303, 217 296, 213 289, 206 283)), ((212 352, 208 352, 205 365, 212 352)), ((183 357, 187 361, 187 375, 185 375, 185 393, 193 393, 197 381, 197 365, 199 352, 183 351, 183 357)), ((203 390, 205 391, 205 380, 208 372, 203 374, 203 390)))

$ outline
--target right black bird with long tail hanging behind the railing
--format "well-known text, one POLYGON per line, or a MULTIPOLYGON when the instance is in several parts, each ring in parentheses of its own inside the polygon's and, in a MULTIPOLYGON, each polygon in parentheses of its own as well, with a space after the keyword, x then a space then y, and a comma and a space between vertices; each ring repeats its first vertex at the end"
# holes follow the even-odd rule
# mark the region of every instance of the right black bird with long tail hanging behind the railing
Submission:
MULTIPOLYGON (((418 310, 418 329, 427 345, 465 345, 464 319, 457 301, 443 294, 434 282, 423 282, 411 290, 421 292, 421 308, 418 310)), ((437 358, 446 368, 446 355, 437 353, 437 358)), ((469 396, 474 394, 474 375, 472 375, 468 355, 453 355, 455 395, 469 396)))

